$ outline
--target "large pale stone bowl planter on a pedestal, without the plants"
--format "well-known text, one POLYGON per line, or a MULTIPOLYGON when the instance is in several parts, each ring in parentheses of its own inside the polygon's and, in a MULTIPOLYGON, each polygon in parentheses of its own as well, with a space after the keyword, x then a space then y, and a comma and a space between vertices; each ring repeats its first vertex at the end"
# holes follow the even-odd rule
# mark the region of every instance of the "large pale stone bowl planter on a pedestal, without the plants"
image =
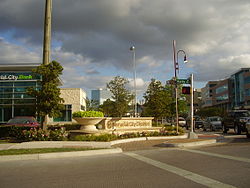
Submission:
POLYGON ((80 130, 83 131, 98 131, 95 125, 103 120, 102 117, 75 117, 73 119, 81 125, 80 130))

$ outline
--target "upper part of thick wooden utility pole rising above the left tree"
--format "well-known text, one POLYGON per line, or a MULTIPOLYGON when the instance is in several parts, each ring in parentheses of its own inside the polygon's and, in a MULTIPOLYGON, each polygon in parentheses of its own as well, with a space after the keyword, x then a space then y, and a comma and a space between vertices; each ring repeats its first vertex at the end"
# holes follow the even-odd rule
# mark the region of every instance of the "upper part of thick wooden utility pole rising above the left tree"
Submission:
POLYGON ((43 64, 50 62, 50 43, 51 43, 51 12, 52 0, 46 0, 44 17, 44 38, 43 38, 43 64))

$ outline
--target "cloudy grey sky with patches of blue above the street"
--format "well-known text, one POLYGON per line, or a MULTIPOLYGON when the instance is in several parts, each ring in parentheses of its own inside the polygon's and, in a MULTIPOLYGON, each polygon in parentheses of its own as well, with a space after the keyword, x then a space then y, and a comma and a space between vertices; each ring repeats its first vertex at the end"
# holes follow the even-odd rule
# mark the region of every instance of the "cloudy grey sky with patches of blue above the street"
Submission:
MULTIPOLYGON (((45 0, 0 0, 0 64, 42 62, 45 0)), ((194 74, 195 87, 250 67, 249 0, 53 0, 52 60, 63 67, 63 87, 104 88, 114 76, 137 86, 194 74)))

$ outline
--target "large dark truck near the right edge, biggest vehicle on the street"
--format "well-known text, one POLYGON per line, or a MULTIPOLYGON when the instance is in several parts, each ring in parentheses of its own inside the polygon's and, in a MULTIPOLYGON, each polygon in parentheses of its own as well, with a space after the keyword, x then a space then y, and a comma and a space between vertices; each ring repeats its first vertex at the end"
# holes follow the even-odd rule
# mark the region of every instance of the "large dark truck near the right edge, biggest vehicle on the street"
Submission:
POLYGON ((247 110, 234 110, 227 113, 222 120, 223 133, 231 128, 236 134, 247 132, 246 123, 250 118, 250 113, 247 110))

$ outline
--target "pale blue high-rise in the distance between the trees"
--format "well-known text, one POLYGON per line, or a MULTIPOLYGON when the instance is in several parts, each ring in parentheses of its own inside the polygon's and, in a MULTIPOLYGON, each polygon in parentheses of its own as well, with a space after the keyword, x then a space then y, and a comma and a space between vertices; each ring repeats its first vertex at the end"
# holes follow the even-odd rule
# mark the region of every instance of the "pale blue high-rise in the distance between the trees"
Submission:
POLYGON ((96 101, 98 105, 102 105, 107 99, 112 99, 112 93, 108 89, 91 90, 91 100, 96 101))

